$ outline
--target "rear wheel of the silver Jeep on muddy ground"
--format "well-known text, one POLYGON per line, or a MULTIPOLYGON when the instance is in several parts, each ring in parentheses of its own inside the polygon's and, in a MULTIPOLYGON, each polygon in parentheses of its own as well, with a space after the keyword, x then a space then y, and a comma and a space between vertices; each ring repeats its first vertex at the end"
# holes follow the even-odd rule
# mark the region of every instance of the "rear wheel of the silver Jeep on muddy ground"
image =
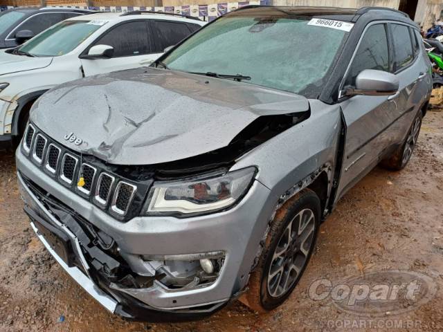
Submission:
POLYGON ((415 145, 417 144, 420 128, 422 127, 422 118, 422 111, 419 111, 417 116, 415 116, 413 123, 410 125, 408 135, 403 144, 399 146, 397 151, 395 151, 390 158, 381 161, 380 165, 382 167, 392 171, 400 171, 408 165, 410 156, 412 156, 415 145))

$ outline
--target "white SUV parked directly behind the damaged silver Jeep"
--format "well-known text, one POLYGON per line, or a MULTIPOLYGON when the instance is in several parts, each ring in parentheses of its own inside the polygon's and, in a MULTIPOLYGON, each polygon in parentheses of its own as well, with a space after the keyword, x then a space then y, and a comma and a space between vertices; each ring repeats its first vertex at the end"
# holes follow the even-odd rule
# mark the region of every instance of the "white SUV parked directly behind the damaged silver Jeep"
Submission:
POLYGON ((206 22, 155 12, 99 12, 0 51, 0 147, 22 135, 33 102, 58 84, 149 66, 206 22))

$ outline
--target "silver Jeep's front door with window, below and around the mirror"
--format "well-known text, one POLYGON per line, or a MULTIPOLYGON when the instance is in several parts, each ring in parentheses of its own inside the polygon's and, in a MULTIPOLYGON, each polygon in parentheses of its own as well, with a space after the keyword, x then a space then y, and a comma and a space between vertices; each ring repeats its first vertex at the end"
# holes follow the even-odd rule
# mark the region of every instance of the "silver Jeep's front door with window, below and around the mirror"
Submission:
MULTIPOLYGON (((389 47, 388 25, 371 24, 365 28, 347 69, 343 88, 354 86, 356 76, 365 69, 392 71, 392 49, 389 47)), ((377 165, 379 155, 389 145, 386 129, 398 113, 399 95, 354 95, 341 102, 347 133, 339 198, 356 181, 377 165)))

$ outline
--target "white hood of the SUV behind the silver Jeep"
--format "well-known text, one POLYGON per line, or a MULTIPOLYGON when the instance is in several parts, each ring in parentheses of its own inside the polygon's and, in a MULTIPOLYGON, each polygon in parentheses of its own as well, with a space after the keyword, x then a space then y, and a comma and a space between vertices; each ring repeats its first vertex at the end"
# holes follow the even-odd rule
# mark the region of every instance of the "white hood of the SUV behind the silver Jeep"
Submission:
POLYGON ((6 53, 5 50, 0 50, 0 75, 44 68, 49 66, 52 61, 52 57, 27 57, 26 55, 14 55, 6 53))

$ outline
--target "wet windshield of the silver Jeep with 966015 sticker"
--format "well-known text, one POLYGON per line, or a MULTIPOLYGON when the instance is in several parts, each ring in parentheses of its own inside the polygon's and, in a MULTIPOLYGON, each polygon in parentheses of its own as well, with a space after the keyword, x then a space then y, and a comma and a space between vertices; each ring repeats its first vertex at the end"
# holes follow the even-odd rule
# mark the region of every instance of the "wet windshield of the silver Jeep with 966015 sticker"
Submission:
POLYGON ((304 17, 221 17, 163 59, 188 73, 245 75, 252 83, 312 97, 347 32, 304 17))

